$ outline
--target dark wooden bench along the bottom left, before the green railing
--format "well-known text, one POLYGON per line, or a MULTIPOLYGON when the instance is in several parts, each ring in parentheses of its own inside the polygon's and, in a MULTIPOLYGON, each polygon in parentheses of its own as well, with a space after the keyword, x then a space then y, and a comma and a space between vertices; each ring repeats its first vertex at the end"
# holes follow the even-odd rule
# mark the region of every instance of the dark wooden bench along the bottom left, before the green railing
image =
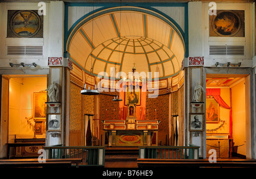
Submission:
POLYGON ((72 164, 79 167, 82 159, 45 159, 45 162, 39 161, 38 159, 3 159, 0 160, 0 167, 71 167, 72 164))

